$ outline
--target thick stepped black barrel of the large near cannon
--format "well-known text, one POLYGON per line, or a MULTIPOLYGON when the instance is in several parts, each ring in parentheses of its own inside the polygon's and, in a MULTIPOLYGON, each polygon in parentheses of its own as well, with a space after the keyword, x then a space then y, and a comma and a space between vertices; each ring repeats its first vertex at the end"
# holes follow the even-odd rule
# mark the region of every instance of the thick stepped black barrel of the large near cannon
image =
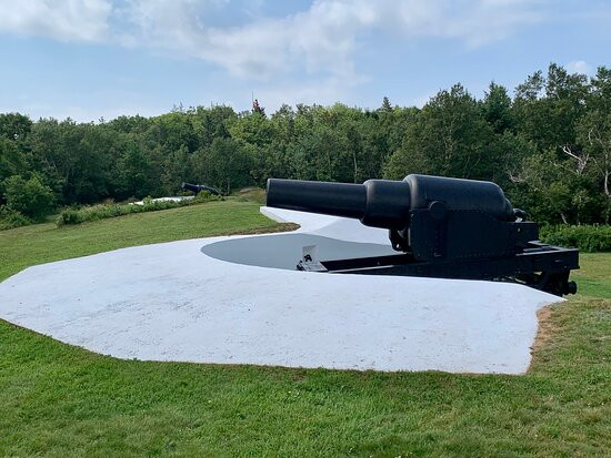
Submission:
POLYGON ((441 202, 447 210, 481 211, 515 221, 515 211, 494 183, 429 175, 403 181, 368 180, 363 184, 268 180, 267 205, 360 220, 364 225, 402 230, 412 210, 441 202))

